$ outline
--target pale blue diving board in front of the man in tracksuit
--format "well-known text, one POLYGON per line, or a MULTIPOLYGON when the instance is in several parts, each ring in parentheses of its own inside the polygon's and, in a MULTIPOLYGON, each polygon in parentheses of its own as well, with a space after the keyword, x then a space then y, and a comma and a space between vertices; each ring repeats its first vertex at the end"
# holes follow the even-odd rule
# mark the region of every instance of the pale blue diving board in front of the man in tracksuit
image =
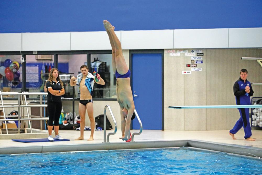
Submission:
POLYGON ((206 109, 206 108, 262 108, 262 105, 210 105, 210 106, 169 106, 174 109, 206 109))

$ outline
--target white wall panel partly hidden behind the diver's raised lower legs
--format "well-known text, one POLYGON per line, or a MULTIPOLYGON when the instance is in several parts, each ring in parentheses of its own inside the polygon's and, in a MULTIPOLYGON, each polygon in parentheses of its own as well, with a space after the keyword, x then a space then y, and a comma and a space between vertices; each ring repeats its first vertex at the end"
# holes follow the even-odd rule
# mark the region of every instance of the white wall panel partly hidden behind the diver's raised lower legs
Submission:
MULTIPOLYGON (((121 41, 121 31, 115 31, 121 41)), ((111 50, 106 31, 71 32, 71 50, 111 50)))

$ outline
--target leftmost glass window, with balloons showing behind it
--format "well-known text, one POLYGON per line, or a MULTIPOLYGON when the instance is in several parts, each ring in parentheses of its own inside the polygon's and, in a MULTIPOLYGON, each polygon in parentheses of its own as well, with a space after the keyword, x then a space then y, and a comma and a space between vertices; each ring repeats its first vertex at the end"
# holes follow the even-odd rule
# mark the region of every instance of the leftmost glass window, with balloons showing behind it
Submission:
MULTIPOLYGON (((0 56, 0 91, 21 92, 22 64, 20 55, 0 56)), ((13 96, 5 96, 12 98, 13 96)))

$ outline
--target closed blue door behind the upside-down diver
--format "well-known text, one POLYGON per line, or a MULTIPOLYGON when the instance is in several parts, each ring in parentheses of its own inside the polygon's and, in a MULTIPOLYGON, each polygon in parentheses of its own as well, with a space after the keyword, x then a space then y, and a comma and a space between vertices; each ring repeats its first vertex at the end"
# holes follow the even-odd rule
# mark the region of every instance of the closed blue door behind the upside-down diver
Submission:
MULTIPOLYGON (((132 90, 143 129, 162 130, 162 55, 132 54, 132 90)), ((133 129, 140 129, 137 119, 133 129)))

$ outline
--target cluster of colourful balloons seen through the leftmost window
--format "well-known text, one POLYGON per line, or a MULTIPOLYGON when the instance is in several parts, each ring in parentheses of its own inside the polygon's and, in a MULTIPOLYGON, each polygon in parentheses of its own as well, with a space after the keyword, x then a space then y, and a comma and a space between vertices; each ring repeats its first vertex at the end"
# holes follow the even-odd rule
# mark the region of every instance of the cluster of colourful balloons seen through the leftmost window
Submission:
POLYGON ((0 78, 5 76, 8 81, 12 81, 14 85, 18 85, 20 83, 20 72, 18 70, 19 63, 17 61, 12 62, 12 60, 6 59, 4 66, 0 67, 0 78))

